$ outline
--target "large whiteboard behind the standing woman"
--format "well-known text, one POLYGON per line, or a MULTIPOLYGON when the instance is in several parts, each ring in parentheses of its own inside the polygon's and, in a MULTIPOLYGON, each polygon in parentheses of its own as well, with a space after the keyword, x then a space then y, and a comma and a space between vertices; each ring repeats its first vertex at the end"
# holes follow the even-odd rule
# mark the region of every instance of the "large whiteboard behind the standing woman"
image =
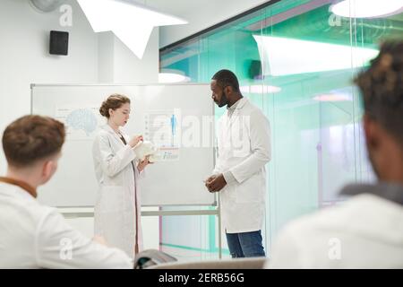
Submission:
MULTIPOLYGON (((189 123, 184 123, 184 118, 199 122, 200 133, 210 129, 210 143, 191 147, 187 144, 179 148, 178 160, 161 161, 147 167, 146 177, 141 179, 141 205, 216 205, 215 195, 210 194, 202 182, 214 167, 213 124, 202 125, 203 120, 213 118, 214 113, 209 85, 32 84, 31 112, 66 122, 63 115, 72 110, 88 111, 92 108, 94 115, 99 114, 100 104, 112 93, 122 93, 132 101, 129 123, 124 126, 124 132, 130 136, 144 135, 146 115, 159 110, 180 111, 182 121, 178 121, 177 126, 183 135, 186 127, 190 127, 189 123)), ((45 186, 39 187, 41 203, 57 207, 95 204, 98 183, 92 161, 92 143, 99 125, 106 123, 105 118, 97 117, 96 130, 91 124, 93 121, 88 119, 85 119, 87 126, 83 129, 68 127, 72 133, 66 136, 56 175, 45 186)))

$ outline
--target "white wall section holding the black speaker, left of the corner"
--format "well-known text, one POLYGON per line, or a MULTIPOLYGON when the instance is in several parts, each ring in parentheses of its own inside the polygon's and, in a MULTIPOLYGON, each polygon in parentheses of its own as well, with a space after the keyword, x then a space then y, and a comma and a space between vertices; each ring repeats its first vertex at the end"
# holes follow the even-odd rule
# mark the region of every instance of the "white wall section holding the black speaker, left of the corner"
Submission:
MULTIPOLYGON (((61 13, 38 13, 28 0, 0 3, 0 133, 13 119, 30 113, 30 83, 98 81, 98 37, 77 7, 73 26, 61 27, 61 13), (50 30, 70 32, 69 55, 48 55, 50 30)), ((4 174, 3 152, 0 173, 4 174)))

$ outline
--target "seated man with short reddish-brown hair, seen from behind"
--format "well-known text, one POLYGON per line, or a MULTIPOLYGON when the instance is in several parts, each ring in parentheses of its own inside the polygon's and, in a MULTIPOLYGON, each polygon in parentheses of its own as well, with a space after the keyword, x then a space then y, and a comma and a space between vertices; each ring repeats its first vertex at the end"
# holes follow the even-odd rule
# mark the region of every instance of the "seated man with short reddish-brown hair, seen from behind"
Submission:
POLYGON ((133 268, 123 251, 84 237, 37 201, 37 187, 56 172, 64 136, 64 125, 51 117, 21 117, 4 130, 0 268, 133 268))

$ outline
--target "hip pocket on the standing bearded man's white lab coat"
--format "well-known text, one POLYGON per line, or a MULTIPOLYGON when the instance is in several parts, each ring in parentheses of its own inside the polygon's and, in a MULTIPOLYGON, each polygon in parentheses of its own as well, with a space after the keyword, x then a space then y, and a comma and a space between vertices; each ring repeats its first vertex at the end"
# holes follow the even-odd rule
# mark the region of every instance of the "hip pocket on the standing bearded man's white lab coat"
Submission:
POLYGON ((253 176, 246 179, 242 184, 236 187, 236 203, 248 204, 264 200, 262 198, 261 178, 253 176))

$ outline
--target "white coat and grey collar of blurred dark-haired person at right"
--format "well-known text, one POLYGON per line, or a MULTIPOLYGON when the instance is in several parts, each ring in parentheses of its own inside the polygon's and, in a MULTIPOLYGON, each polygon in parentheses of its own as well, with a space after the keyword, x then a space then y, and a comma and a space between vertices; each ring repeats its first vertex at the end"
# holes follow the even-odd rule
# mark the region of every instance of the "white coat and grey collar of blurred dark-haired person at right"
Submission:
POLYGON ((352 196, 279 232, 268 268, 403 268, 403 186, 350 185, 352 196))

